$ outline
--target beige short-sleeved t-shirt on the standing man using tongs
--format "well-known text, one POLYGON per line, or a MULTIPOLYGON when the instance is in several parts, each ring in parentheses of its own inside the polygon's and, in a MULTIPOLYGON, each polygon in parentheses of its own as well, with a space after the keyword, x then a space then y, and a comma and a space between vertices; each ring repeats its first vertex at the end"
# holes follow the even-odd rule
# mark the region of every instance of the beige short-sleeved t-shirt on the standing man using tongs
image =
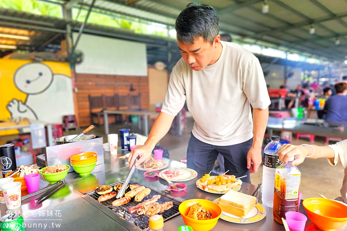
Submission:
POLYGON ((220 58, 201 71, 180 59, 172 69, 162 112, 175 116, 185 101, 202 142, 227 146, 253 137, 251 106, 266 109, 270 98, 259 60, 236 43, 221 42, 220 58))

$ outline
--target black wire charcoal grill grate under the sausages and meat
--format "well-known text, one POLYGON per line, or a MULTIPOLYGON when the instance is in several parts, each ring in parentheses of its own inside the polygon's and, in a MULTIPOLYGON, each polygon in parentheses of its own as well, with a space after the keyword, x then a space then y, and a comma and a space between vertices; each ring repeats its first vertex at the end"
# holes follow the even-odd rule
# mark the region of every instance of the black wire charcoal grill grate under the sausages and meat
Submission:
MULTIPOLYGON (((123 181, 120 181, 110 186, 113 188, 113 186, 122 182, 123 181)), ((130 180, 130 184, 137 184, 137 182, 130 180)), ((168 195, 162 194, 160 189, 152 189, 151 187, 146 187, 146 188, 150 188, 151 193, 148 196, 146 196, 141 202, 144 202, 144 200, 150 199, 155 195, 161 196, 159 200, 157 201, 159 204, 172 201, 174 207, 168 209, 167 211, 164 211, 161 214, 163 216, 164 221, 179 214, 178 206, 181 204, 181 202, 184 201, 183 199, 177 198, 177 197, 173 198, 168 195)), ((128 191, 130 191, 130 188, 128 188, 125 192, 127 193, 128 191)), ((101 195, 97 194, 95 190, 93 190, 93 191, 87 192, 85 195, 82 196, 82 198, 84 198, 87 202, 94 205, 96 208, 100 209, 102 212, 110 216, 113 220, 117 221, 128 230, 143 230, 143 231, 149 230, 148 223, 149 223, 150 216, 137 215, 136 212, 131 214, 128 211, 130 207, 135 206, 141 202, 135 202, 134 198, 132 198, 129 203, 114 207, 112 206, 112 202, 116 200, 116 197, 113 197, 112 199, 106 200, 104 202, 98 202, 98 198, 100 196, 101 195)))

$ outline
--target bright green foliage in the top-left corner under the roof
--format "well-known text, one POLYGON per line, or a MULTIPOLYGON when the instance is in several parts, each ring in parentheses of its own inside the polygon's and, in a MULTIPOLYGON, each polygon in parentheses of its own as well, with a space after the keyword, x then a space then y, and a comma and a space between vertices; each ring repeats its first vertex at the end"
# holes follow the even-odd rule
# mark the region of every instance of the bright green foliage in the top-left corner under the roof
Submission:
POLYGON ((61 6, 37 0, 0 0, 0 8, 61 18, 61 6))

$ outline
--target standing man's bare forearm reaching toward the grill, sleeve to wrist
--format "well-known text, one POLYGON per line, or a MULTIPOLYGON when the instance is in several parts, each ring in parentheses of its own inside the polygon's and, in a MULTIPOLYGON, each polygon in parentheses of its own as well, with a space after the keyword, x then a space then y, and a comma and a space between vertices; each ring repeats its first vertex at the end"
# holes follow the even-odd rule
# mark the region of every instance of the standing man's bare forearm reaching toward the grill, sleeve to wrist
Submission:
POLYGON ((145 142, 145 145, 150 145, 154 148, 156 143, 158 143, 159 140, 167 134, 174 118, 175 117, 172 115, 166 114, 165 112, 160 112, 160 114, 154 122, 154 125, 151 129, 148 139, 145 142))

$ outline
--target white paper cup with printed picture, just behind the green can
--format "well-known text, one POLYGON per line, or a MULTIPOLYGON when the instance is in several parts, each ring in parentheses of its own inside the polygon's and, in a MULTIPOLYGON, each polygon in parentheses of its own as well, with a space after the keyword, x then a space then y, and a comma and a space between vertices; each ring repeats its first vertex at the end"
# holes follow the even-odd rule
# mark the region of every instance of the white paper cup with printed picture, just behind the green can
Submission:
POLYGON ((1 186, 3 195, 5 196, 7 209, 15 209, 20 206, 20 197, 22 196, 22 191, 20 189, 21 186, 22 182, 11 182, 1 186))

